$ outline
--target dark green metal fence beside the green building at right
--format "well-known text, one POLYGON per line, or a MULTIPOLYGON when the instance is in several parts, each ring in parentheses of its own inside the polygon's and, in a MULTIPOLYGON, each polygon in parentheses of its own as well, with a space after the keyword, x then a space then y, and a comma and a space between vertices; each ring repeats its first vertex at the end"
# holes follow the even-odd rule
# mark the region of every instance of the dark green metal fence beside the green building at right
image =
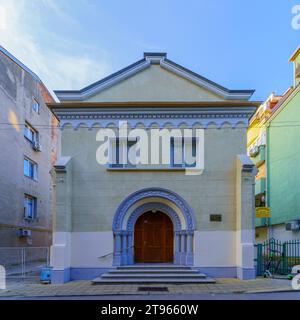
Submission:
POLYGON ((294 265, 300 265, 300 239, 279 241, 274 238, 255 245, 256 275, 264 275, 266 269, 272 274, 287 275, 294 265))

